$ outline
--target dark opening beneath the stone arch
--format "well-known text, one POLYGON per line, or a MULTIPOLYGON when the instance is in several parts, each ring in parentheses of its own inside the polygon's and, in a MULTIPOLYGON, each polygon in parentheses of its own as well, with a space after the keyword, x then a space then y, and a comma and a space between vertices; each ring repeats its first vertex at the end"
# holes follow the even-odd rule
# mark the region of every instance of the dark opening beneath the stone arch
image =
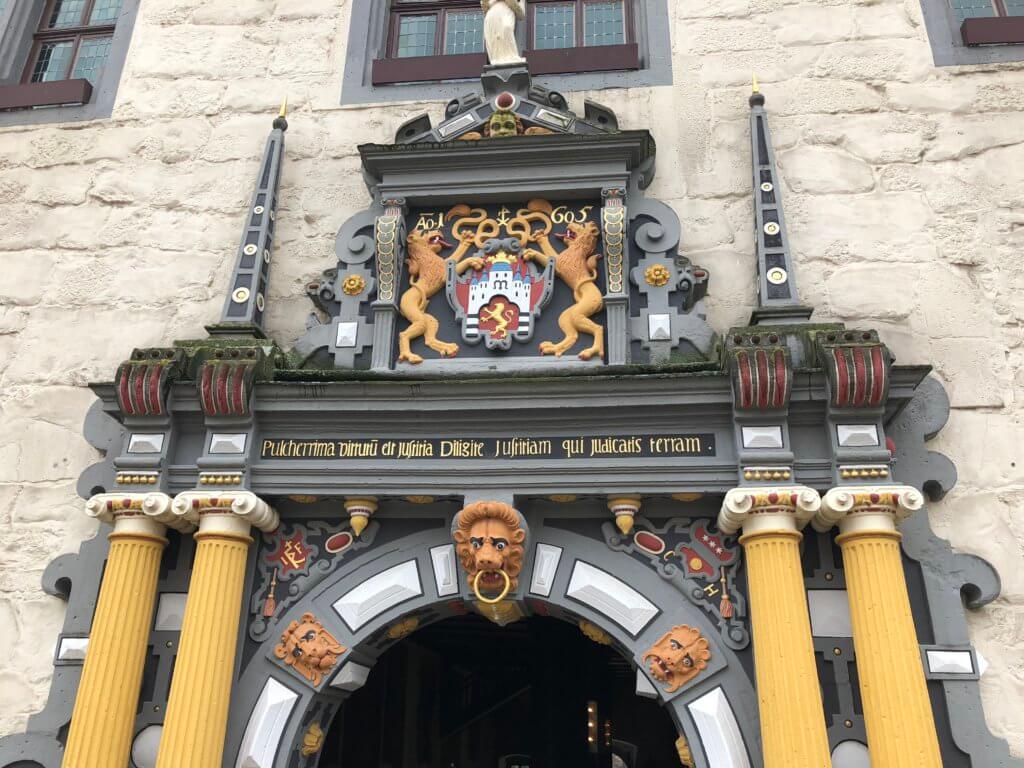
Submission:
POLYGON ((667 710, 574 625, 470 614, 389 648, 328 731, 321 768, 678 768, 667 710))

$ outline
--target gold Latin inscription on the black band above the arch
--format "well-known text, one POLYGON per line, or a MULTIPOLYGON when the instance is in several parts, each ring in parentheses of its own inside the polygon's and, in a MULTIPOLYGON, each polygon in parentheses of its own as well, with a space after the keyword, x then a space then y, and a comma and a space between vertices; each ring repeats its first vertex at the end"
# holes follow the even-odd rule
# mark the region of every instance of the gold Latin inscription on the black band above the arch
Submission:
POLYGON ((386 439, 267 438, 262 459, 622 459, 715 456, 713 434, 386 439))

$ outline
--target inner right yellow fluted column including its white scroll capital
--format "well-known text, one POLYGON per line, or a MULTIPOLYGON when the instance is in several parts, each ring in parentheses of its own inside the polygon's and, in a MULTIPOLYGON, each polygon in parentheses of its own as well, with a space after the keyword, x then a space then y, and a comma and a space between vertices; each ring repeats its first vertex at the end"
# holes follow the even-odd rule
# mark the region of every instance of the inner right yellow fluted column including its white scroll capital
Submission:
POLYGON ((807 487, 735 488, 719 527, 742 528, 765 768, 829 768, 800 528, 821 505, 807 487))

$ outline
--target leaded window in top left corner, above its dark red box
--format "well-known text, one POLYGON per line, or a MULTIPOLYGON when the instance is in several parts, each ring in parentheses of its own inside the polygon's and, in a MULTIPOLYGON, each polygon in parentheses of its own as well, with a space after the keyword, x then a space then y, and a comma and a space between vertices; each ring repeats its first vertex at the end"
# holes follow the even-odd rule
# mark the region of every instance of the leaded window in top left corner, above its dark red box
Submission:
POLYGON ((22 77, 25 83, 88 80, 106 63, 123 0, 49 0, 22 77))

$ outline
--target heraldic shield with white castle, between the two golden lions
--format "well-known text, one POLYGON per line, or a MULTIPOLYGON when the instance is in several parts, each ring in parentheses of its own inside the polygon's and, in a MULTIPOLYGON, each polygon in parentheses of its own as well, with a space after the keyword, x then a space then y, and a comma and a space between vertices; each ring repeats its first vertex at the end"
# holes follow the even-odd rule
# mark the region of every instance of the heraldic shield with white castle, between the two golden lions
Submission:
POLYGON ((508 350, 515 341, 529 341, 541 310, 554 290, 554 260, 544 268, 523 256, 520 238, 489 238, 475 256, 480 269, 458 274, 447 265, 447 300, 470 344, 483 339, 487 349, 508 350))

